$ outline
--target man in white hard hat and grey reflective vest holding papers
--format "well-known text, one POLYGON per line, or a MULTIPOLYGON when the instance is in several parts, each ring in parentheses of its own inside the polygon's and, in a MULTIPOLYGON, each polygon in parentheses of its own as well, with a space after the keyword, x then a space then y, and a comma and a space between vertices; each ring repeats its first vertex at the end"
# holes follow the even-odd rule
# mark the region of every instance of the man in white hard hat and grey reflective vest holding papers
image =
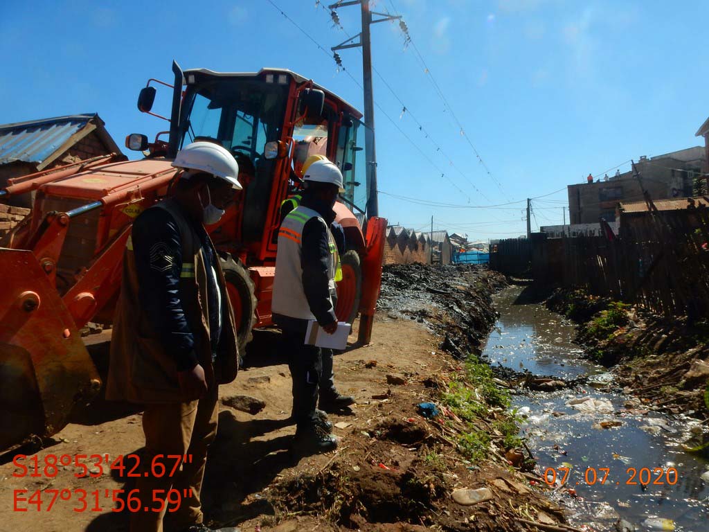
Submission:
POLYGON ((338 328, 333 297, 342 272, 330 223, 337 194, 343 192, 342 174, 332 162, 320 160, 308 167, 303 181, 308 187, 300 205, 284 218, 278 235, 272 311, 289 346, 296 450, 326 452, 337 447, 337 440, 316 411, 323 359, 315 343, 318 332, 332 335, 338 328))

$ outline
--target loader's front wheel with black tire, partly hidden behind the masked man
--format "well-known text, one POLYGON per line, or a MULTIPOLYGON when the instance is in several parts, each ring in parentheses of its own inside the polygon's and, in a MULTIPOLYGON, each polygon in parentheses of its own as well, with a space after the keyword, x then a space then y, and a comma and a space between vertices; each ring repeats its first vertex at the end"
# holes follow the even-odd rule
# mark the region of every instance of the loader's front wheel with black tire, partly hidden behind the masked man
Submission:
POLYGON ((255 284, 246 267, 234 260, 231 255, 221 259, 221 267, 226 278, 231 304, 234 307, 239 355, 243 358, 246 354, 246 344, 253 338, 252 330, 256 325, 255 284), (238 294, 238 301, 234 301, 234 294, 238 294))

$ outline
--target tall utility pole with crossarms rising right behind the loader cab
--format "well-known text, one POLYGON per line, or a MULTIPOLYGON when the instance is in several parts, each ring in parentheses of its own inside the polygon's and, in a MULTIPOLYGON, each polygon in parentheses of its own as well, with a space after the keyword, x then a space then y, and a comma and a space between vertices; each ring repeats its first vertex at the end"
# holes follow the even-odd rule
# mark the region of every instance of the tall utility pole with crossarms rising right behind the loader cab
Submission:
POLYGON ((372 43, 369 38, 369 26, 377 22, 398 20, 401 16, 389 16, 386 13, 369 11, 369 0, 338 1, 328 6, 330 10, 359 4, 362 11, 362 32, 345 40, 331 50, 335 52, 335 61, 340 64, 337 50, 362 47, 362 82, 364 85, 364 157, 367 159, 367 217, 379 216, 379 199, 376 192, 376 148, 374 143, 374 92, 372 90, 372 43), (381 18, 374 20, 372 15, 381 18), (359 42, 354 42, 359 38, 359 42))

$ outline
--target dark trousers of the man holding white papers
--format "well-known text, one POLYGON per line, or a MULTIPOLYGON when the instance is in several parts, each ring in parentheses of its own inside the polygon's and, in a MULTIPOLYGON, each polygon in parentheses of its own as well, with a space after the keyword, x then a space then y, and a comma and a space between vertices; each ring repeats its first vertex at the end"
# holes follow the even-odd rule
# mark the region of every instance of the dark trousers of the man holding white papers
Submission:
POLYGON ((283 331, 285 348, 288 351, 288 367, 293 380, 293 418, 298 430, 310 428, 318 421, 315 409, 318 404, 318 387, 323 375, 322 352, 316 345, 305 343, 307 320, 274 316, 274 321, 283 331))

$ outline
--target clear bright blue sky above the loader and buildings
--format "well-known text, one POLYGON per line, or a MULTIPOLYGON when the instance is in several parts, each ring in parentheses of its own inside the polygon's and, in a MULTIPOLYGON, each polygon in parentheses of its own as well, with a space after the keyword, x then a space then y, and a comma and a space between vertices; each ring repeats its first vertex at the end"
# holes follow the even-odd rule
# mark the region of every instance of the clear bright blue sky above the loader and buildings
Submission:
MULTIPOLYGON (((315 0, 273 1, 325 48, 347 38, 315 0)), ((373 9, 403 15, 454 113, 398 25, 373 26, 374 66, 396 92, 375 76, 375 100, 412 141, 376 109, 379 189, 461 206, 381 194, 390 223, 428 230, 434 216, 436 229, 474 240, 523 234, 523 202, 469 207, 541 196, 640 155, 700 145, 705 1, 378 0, 373 9)), ((338 14, 345 31, 359 31, 357 8, 338 14)), ((0 123, 96 111, 119 145, 128 133, 164 128, 135 100, 148 78, 169 81, 173 58, 184 68, 286 67, 362 109, 360 89, 267 0, 4 2, 0 48, 0 123)), ((359 52, 340 55, 361 79, 359 52)), ((565 200, 565 190, 535 200, 532 227, 561 223, 565 200)))

